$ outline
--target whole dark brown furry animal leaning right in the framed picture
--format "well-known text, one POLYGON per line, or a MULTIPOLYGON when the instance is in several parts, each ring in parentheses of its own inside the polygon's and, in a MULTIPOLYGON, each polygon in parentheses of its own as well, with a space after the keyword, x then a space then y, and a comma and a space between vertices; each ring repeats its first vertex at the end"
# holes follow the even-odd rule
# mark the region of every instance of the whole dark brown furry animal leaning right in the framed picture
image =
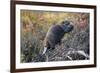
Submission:
POLYGON ((48 49, 55 49, 55 46, 61 42, 65 33, 71 32, 73 27, 72 23, 67 20, 62 21, 60 24, 52 25, 44 38, 43 54, 45 54, 48 49))

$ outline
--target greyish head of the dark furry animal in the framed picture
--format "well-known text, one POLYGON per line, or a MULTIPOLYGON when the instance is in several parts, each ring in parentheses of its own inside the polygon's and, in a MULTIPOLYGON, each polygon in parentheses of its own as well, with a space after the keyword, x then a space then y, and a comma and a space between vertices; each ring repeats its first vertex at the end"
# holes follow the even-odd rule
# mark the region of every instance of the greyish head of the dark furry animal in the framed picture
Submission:
POLYGON ((67 20, 61 22, 61 27, 65 33, 72 31, 74 28, 72 22, 67 21, 67 20))

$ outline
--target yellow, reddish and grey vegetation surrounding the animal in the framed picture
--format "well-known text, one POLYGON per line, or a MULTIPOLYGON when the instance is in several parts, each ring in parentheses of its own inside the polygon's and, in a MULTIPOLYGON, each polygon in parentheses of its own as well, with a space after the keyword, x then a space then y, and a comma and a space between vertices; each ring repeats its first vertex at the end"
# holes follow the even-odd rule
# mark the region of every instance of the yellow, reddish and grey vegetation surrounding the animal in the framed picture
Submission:
POLYGON ((20 14, 22 63, 89 59, 89 13, 21 10, 20 14), (63 20, 74 24, 73 31, 54 50, 41 55, 48 29, 63 20))

